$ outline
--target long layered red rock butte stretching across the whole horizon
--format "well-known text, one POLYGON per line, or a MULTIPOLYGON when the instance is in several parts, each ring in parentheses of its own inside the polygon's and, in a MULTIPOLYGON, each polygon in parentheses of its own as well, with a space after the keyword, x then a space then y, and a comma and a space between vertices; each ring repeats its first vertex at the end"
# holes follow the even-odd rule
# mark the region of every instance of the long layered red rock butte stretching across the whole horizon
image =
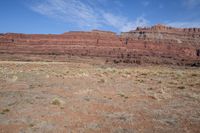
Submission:
POLYGON ((173 28, 158 24, 138 27, 120 35, 99 30, 63 34, 0 34, 0 58, 10 60, 9 56, 14 59, 27 55, 100 57, 114 63, 198 66, 200 28, 173 28))

